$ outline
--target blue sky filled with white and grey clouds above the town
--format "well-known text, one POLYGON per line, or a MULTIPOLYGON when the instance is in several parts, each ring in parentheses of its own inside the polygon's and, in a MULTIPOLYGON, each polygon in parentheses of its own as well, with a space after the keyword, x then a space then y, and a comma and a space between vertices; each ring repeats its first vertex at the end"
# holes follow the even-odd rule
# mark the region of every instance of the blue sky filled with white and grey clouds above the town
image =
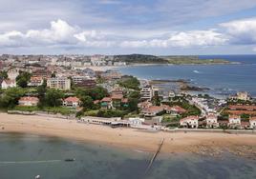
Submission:
POLYGON ((0 53, 256 54, 256 0, 0 0, 0 53))

